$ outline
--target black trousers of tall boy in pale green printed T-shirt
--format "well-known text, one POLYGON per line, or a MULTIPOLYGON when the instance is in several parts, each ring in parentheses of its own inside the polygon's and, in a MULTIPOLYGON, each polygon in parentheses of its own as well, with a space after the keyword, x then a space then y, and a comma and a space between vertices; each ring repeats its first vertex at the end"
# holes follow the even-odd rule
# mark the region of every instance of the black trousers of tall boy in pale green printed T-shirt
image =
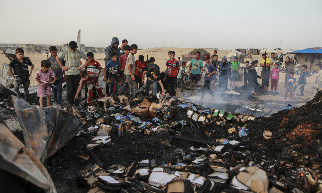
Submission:
POLYGON ((67 100, 70 105, 74 104, 76 106, 80 103, 81 92, 78 94, 78 98, 75 99, 74 96, 77 93, 77 88, 80 86, 81 76, 77 75, 66 75, 66 93, 67 100))

